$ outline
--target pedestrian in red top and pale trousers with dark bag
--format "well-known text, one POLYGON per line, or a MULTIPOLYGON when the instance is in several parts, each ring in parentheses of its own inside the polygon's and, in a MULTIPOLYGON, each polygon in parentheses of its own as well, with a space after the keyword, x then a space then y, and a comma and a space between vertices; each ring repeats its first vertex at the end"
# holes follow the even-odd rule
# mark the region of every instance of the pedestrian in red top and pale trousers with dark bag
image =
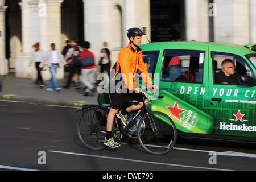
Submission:
POLYGON ((81 52, 81 82, 86 86, 84 96, 89 96, 90 93, 94 93, 94 86, 91 84, 92 77, 94 76, 94 69, 96 68, 96 74, 100 75, 100 70, 95 64, 95 58, 92 52, 88 49, 90 48, 90 43, 85 41, 82 43, 81 52))

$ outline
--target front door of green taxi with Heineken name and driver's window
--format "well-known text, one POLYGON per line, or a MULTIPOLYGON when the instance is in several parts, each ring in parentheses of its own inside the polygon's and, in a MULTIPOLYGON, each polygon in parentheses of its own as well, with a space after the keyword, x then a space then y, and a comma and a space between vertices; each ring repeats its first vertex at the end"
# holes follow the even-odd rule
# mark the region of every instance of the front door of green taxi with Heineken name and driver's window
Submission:
POLYGON ((233 61, 236 67, 235 77, 255 77, 254 68, 245 56, 221 51, 223 49, 209 48, 209 98, 205 107, 208 114, 214 118, 213 123, 209 125, 213 126, 213 134, 256 137, 255 86, 217 84, 215 80, 225 59, 233 61))

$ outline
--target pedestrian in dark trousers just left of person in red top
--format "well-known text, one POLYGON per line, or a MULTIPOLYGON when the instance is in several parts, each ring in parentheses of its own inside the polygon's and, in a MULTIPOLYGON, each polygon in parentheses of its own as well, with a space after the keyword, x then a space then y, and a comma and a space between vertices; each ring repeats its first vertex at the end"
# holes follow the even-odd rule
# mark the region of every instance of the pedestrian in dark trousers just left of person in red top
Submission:
POLYGON ((66 89, 69 88, 74 75, 77 75, 77 77, 75 79, 75 87, 79 88, 79 76, 81 75, 81 69, 80 69, 80 65, 76 65, 73 62, 73 52, 75 51, 76 48, 79 48, 79 50, 81 52, 83 51, 83 49, 78 45, 77 42, 78 41, 76 39, 71 39, 72 47, 68 49, 68 52, 65 55, 65 60, 67 61, 68 65, 69 65, 69 72, 70 72, 67 84, 63 86, 66 89))

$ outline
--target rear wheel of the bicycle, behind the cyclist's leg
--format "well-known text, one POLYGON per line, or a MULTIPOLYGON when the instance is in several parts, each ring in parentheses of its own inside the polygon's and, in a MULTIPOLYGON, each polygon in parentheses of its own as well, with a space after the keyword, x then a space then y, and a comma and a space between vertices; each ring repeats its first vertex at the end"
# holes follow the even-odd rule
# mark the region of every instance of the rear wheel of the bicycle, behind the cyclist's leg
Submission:
POLYGON ((82 144, 91 150, 105 148, 103 142, 106 137, 106 118, 108 112, 101 109, 89 108, 82 112, 77 122, 77 134, 82 144))

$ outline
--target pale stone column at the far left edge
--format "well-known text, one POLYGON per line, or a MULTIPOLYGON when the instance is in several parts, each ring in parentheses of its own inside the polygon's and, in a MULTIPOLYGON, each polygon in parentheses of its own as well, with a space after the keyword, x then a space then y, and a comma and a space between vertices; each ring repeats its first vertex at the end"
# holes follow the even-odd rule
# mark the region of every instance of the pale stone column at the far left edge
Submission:
POLYGON ((5 10, 7 6, 0 6, 0 75, 8 74, 8 60, 5 51, 5 10))

